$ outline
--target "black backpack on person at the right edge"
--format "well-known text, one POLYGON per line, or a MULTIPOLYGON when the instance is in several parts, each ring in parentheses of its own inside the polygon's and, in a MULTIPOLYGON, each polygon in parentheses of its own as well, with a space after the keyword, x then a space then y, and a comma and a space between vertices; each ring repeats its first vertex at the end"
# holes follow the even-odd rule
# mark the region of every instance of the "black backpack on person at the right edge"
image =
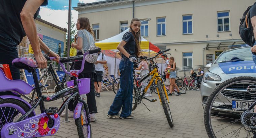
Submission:
POLYGON ((245 10, 242 18, 240 19, 240 25, 239 25, 240 37, 246 44, 250 45, 251 47, 253 47, 255 43, 253 27, 252 27, 251 18, 250 18, 250 9, 252 6, 249 6, 245 10))

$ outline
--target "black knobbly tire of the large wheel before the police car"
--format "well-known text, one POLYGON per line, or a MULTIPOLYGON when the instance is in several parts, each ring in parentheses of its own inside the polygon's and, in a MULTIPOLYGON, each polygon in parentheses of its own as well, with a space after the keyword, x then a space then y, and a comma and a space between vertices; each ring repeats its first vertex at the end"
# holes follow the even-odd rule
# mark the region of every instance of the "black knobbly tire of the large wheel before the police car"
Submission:
MULTIPOLYGON (((224 82, 222 82, 221 84, 219 84, 214 91, 211 93, 211 95, 208 97, 207 102, 205 104, 205 108, 204 108, 204 126, 205 126, 205 130, 207 135, 209 136, 209 138, 216 138, 214 132, 212 132, 211 129, 211 113, 209 114, 209 112, 211 112, 211 105, 212 102, 214 102, 214 98, 217 94, 220 93, 220 91, 223 90, 223 88, 225 88, 226 86, 229 86, 229 84, 237 82, 237 81, 255 81, 256 78, 255 77, 249 77, 249 76, 240 76, 240 77, 234 77, 231 79, 228 79, 224 82), (210 115, 210 117, 209 117, 210 115)), ((256 81, 255 81, 256 82, 256 81)))

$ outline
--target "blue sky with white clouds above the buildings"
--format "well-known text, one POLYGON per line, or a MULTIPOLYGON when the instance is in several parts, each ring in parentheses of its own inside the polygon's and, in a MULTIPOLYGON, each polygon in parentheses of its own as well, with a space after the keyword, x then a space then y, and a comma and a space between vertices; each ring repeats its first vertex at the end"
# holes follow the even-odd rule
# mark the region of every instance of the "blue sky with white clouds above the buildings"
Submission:
MULTIPOLYGON (((77 7, 77 3, 91 3, 103 0, 72 0, 71 1, 71 14, 73 16, 72 21, 76 23, 78 18, 78 12, 73 9, 77 7)), ((40 7, 39 12, 41 19, 55 24, 61 28, 68 28, 68 0, 49 0, 47 6, 40 7)))

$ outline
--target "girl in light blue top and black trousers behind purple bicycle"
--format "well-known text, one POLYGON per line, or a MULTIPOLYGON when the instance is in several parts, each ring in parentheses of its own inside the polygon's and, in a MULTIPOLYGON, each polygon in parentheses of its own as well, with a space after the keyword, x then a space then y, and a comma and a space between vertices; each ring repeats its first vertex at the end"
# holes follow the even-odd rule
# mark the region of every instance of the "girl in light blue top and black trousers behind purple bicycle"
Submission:
MULTIPOLYGON (((76 43, 71 43, 71 46, 77 49, 77 56, 83 55, 82 50, 86 51, 89 49, 91 45, 95 43, 94 41, 94 33, 90 26, 90 21, 86 17, 80 17, 77 19, 76 29, 76 43), (89 41, 88 41, 89 40, 89 41)), ((78 61, 74 63, 74 69, 81 69, 82 61, 78 61)), ((94 73, 95 73, 95 65, 93 63, 89 63, 85 61, 83 72, 79 73, 78 78, 91 78, 90 83, 90 93, 86 94, 88 108, 90 112, 91 121, 96 121, 95 113, 97 113, 96 100, 94 96, 94 73)), ((81 95, 81 98, 85 98, 85 96, 81 95)))

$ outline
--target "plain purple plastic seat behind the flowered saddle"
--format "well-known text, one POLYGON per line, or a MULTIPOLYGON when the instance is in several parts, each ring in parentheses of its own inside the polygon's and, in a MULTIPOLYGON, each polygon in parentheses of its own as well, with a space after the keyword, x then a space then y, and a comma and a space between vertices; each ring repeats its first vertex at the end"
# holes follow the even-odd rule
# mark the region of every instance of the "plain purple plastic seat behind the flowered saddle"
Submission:
POLYGON ((10 80, 0 69, 0 93, 3 91, 17 91, 20 94, 29 94, 34 88, 23 80, 10 80))

